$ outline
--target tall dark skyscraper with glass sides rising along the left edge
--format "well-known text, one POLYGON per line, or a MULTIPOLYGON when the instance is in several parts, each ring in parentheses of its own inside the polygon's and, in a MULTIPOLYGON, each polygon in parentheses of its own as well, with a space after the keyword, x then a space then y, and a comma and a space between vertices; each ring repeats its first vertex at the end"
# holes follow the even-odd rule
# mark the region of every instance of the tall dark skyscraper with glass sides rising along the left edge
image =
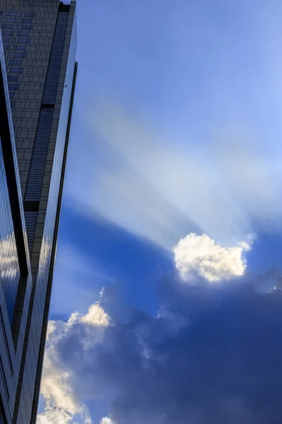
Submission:
POLYGON ((76 3, 0 0, 0 28, 0 424, 28 424, 36 422, 74 100, 76 3))

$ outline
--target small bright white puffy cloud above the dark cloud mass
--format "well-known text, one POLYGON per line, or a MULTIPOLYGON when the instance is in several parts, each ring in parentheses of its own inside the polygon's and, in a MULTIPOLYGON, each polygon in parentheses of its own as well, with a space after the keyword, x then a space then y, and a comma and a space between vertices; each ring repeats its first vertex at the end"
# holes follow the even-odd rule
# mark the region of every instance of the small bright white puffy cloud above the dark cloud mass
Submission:
POLYGON ((173 248, 175 266, 185 281, 201 276, 210 283, 240 277, 247 268, 243 254, 251 249, 247 242, 235 247, 223 247, 208 235, 193 232, 173 248))

